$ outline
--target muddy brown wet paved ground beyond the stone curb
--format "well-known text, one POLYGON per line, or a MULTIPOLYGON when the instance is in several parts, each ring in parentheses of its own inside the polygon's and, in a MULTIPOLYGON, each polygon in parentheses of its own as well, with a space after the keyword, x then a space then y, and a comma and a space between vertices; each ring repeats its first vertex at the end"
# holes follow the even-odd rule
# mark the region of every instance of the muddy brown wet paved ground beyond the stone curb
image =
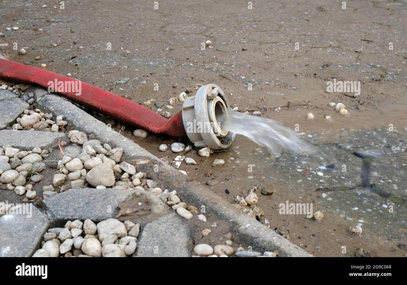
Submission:
MULTIPOLYGON (((254 2, 247 9, 232 0, 168 0, 154 9, 153 2, 83 0, 41 9, 37 0, 6 1, 0 41, 9 47, 0 52, 138 103, 167 104, 181 92, 194 95, 197 84, 219 85, 231 107, 297 127, 323 159, 284 154, 275 160, 239 136, 210 158, 193 149, 187 156, 197 165, 180 169, 204 185, 217 180, 206 187, 232 204, 255 185, 274 191, 259 201, 270 227, 315 256, 353 256, 360 247, 372 256, 406 256, 407 4, 360 1, 341 9, 336 1, 316 3, 254 2), (6 30, 13 26, 20 29, 6 30), (213 48, 202 50, 206 40, 213 48), (13 42, 27 54, 18 55, 13 42), (130 78, 125 85, 114 84, 123 77, 130 78), (361 81, 360 95, 327 92, 326 82, 334 79, 361 81), (335 112, 331 101, 344 103, 348 115, 335 112), (315 119, 306 119, 309 112, 315 119), (212 167, 217 158, 223 167, 212 167), (280 215, 286 201, 312 203, 325 219, 317 224, 305 215, 280 215), (350 237, 347 229, 357 225, 361 238, 350 237)), ((181 106, 151 110, 174 115, 181 106)), ((125 127, 123 134, 156 156, 175 158, 158 150, 173 138, 135 138, 133 128, 98 118, 118 131, 125 127)))

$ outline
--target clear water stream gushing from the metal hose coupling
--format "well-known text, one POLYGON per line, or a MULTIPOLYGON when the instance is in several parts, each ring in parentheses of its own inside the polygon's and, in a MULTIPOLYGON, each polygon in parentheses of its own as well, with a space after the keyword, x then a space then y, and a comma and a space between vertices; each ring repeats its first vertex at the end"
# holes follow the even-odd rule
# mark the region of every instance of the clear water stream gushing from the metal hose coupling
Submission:
POLYGON ((296 132, 269 118, 229 111, 217 118, 217 121, 223 130, 241 134, 256 144, 267 147, 269 152, 277 157, 284 151, 293 155, 317 152, 313 145, 300 140, 296 132))

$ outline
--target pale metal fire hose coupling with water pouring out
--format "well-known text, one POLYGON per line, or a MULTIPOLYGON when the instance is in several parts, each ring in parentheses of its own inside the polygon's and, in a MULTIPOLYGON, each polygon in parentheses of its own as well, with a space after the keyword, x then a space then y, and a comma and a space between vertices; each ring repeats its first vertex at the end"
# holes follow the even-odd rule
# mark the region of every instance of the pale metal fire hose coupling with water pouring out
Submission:
POLYGON ((195 147, 223 150, 230 147, 236 134, 223 130, 219 119, 228 113, 229 102, 218 85, 208 84, 188 97, 182 105, 182 122, 195 147))

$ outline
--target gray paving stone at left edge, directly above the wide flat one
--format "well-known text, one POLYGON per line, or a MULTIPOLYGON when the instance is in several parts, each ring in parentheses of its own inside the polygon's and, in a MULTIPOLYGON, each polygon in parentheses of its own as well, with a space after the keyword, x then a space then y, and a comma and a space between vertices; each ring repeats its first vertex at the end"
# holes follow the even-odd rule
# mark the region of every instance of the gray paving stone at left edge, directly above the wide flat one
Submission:
POLYGON ((0 129, 5 129, 30 105, 20 98, 12 98, 13 93, 10 91, 7 91, 9 94, 4 94, 4 90, 1 91, 3 92, 0 93, 0 98, 9 98, 0 101, 0 129))

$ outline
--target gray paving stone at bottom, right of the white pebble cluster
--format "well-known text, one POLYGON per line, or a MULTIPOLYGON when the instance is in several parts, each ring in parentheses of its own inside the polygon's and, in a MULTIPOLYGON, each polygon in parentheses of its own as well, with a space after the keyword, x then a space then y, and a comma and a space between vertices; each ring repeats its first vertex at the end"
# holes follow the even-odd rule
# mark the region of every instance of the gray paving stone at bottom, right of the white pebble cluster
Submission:
POLYGON ((190 257, 192 229, 175 212, 142 227, 133 257, 190 257))

